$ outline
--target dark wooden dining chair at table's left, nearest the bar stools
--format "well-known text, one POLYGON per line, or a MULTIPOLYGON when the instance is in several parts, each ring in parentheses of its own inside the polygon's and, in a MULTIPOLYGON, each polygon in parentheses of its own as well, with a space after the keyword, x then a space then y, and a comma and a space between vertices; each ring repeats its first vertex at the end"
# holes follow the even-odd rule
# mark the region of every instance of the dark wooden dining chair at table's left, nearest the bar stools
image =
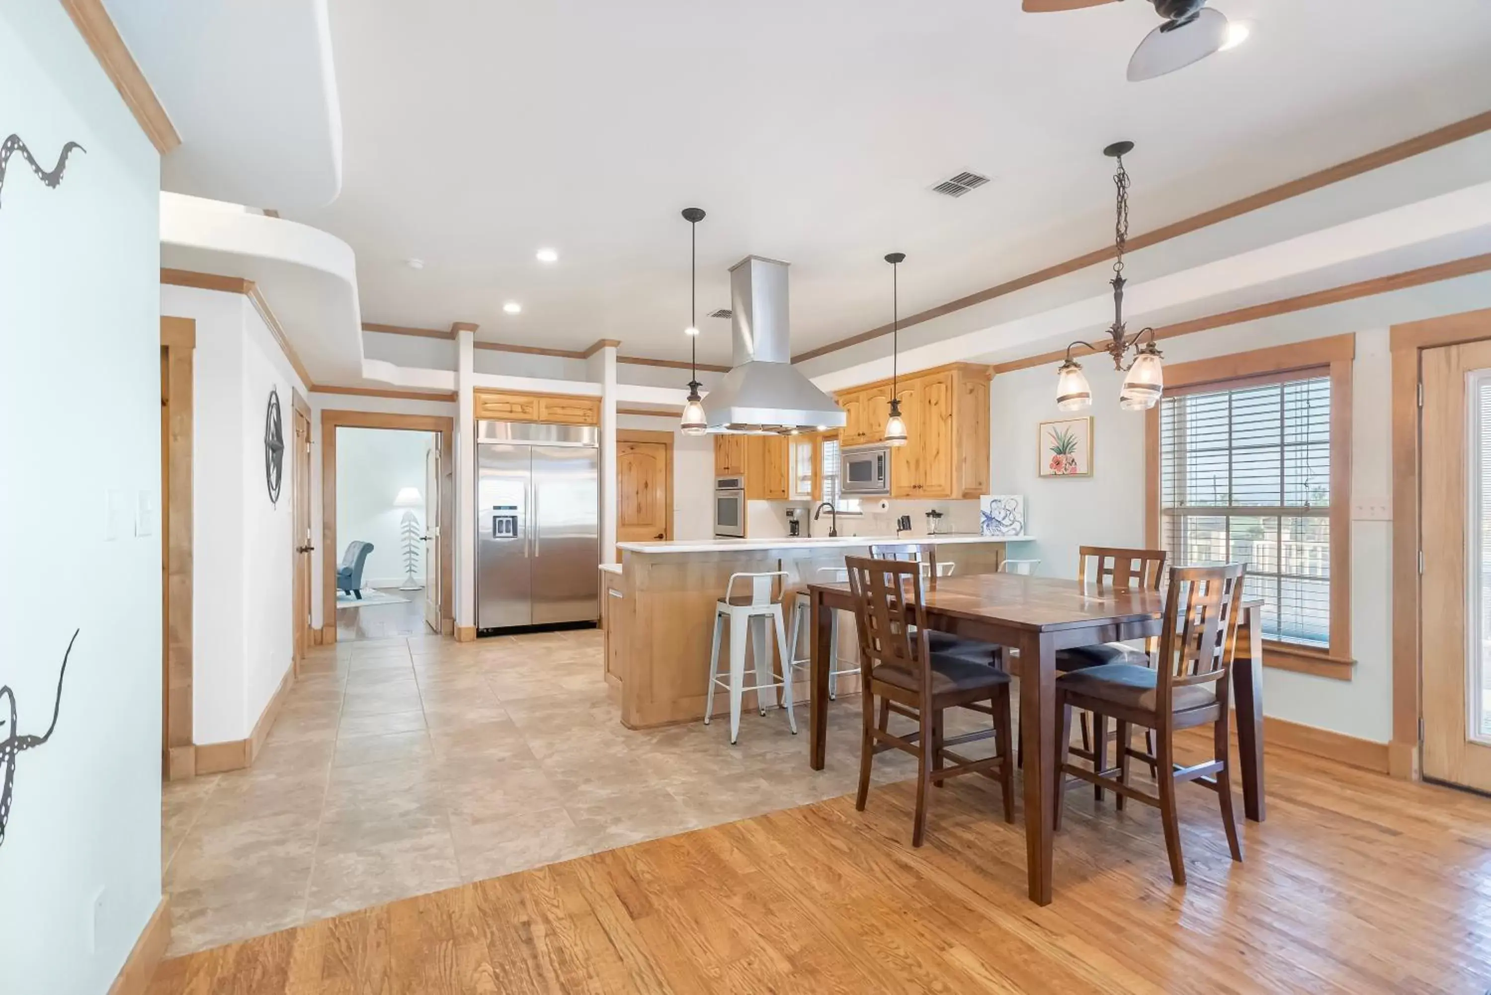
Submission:
POLYGON ((859 755, 859 794, 854 809, 865 810, 875 753, 899 749, 917 758, 917 806, 911 846, 921 846, 927 822, 927 786, 948 777, 983 773, 999 782, 1005 822, 1014 822, 1015 786, 1009 732, 1009 674, 933 652, 927 640, 926 585, 921 567, 902 559, 850 556, 850 597, 859 633, 863 721, 859 755), (875 716, 875 698, 883 707, 875 716), (887 707, 915 719, 917 731, 896 735, 887 728, 887 707), (962 735, 944 732, 944 712, 977 707, 993 718, 992 726, 962 735), (994 740, 994 755, 971 759, 950 747, 994 740), (948 764, 951 761, 951 764, 948 764))

